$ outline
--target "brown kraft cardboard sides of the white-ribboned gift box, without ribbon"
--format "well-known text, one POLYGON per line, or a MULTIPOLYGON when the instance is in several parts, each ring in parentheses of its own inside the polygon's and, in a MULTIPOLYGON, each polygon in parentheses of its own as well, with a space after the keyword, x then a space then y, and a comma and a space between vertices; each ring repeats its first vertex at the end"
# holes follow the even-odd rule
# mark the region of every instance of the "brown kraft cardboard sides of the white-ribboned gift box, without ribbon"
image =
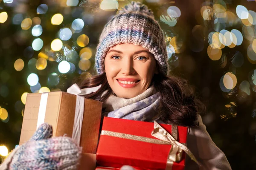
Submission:
MULTIPOLYGON (((20 145, 30 139, 37 127, 41 94, 28 94, 20 134, 20 145)), ((44 122, 52 125, 53 136, 72 137, 76 95, 62 91, 49 92, 44 122)), ((86 99, 81 127, 82 153, 96 153, 102 102, 86 99)))

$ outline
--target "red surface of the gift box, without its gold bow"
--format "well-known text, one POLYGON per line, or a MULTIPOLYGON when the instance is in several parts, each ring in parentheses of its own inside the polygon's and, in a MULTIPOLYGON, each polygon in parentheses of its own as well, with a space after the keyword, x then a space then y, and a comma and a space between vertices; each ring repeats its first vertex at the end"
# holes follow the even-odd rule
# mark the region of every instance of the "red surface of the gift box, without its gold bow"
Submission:
MULTIPOLYGON (((172 134, 172 125, 160 124, 169 134, 172 134)), ((185 144, 187 127, 177 127, 177 141, 185 144)), ((96 153, 97 164, 104 167, 122 167, 131 165, 140 169, 166 170, 167 159, 171 144, 154 144, 134 139, 124 139, 138 136, 153 140, 159 139, 151 135, 154 123, 141 122, 126 119, 104 117, 102 132, 96 153), (105 132, 110 132, 106 135, 105 132), (128 134, 128 135, 125 135, 128 134), (120 137, 121 135, 121 137, 120 137), (119 137, 116 137, 119 136, 119 137)), ((174 136, 175 134, 172 134, 174 136)), ((141 138, 139 137, 139 138, 141 138)), ((163 141, 161 141, 163 142, 163 141)), ((179 162, 172 162, 172 170, 183 170, 185 166, 185 153, 183 152, 179 162)))

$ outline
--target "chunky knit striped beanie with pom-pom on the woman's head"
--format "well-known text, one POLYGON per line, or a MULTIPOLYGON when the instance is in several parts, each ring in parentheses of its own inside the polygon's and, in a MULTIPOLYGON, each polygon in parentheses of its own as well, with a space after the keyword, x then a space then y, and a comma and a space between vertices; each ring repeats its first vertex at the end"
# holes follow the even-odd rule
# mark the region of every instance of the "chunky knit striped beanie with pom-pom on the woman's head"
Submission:
POLYGON ((104 59, 108 50, 117 44, 141 45, 154 55, 159 71, 169 72, 166 43, 159 24, 148 6, 132 1, 118 11, 104 27, 96 51, 95 67, 104 73, 104 59))

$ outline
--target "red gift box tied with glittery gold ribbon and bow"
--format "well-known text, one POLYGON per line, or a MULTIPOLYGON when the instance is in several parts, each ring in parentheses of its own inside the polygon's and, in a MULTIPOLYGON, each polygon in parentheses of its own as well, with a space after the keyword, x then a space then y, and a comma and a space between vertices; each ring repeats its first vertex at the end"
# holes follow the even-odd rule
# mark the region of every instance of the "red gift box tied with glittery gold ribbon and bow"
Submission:
POLYGON ((96 153, 97 164, 183 170, 183 151, 192 156, 186 148, 186 138, 187 127, 105 117, 96 153))

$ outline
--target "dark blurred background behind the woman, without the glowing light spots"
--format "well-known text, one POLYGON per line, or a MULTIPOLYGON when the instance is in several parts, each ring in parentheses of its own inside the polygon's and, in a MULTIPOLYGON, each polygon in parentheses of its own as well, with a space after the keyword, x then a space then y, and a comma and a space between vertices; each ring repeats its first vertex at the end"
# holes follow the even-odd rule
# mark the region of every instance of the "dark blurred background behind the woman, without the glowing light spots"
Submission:
MULTIPOLYGON (((207 54, 209 33, 219 32, 221 29, 227 31, 237 29, 242 33, 244 24, 237 17, 236 7, 242 5, 248 10, 256 11, 256 2, 254 0, 143 0, 141 2, 154 11, 155 19, 159 21, 166 36, 166 43, 169 44, 169 40, 176 37, 174 42, 176 53, 170 54, 169 58, 170 74, 187 79, 189 84, 195 87, 195 93, 207 107, 202 117, 212 140, 226 154, 234 170, 256 169, 256 88, 252 77, 256 67, 255 62, 250 62, 247 57, 247 48, 256 38, 255 25, 251 26, 254 28, 251 34, 252 40, 247 40, 243 34, 241 45, 234 48, 226 46, 221 49, 221 59, 213 61, 207 54), (216 26, 219 21, 215 20, 215 11, 210 11, 211 20, 204 20, 200 13, 201 7, 204 5, 212 7, 214 4, 222 4, 226 6, 226 11, 231 11, 236 15, 233 26, 228 26, 228 24, 224 28, 216 26), (180 17, 175 18, 177 20, 175 26, 160 21, 161 15, 168 17, 169 6, 177 6, 181 11, 180 17), (200 25, 201 31, 194 34, 193 28, 196 25, 200 25), (237 61, 238 51, 242 57, 237 61), (235 61, 240 67, 234 66, 235 61), (227 72, 232 72, 236 76, 237 83, 232 90, 223 92, 220 88, 220 81, 227 72), (246 89, 250 91, 250 94, 241 87, 243 81, 249 83, 246 89)), ((21 95, 24 92, 32 93, 27 83, 29 74, 37 74, 41 86, 48 87, 51 91, 66 91, 72 85, 74 77, 80 74, 84 76, 95 74, 93 57, 99 35, 103 26, 117 11, 104 11, 99 8, 101 3, 100 0, 79 1, 77 6, 70 7, 66 6, 66 0, 14 0, 8 4, 0 0, 0 13, 6 11, 8 14, 6 22, 0 23, 0 106, 8 111, 9 116, 0 121, 0 145, 5 145, 9 151, 15 148, 20 139, 24 108, 21 95), (43 3, 48 6, 47 13, 37 14, 38 6, 43 3), (23 30, 20 24, 15 25, 12 18, 18 13, 22 14, 23 19, 34 17, 41 19, 43 33, 39 38, 44 41, 44 46, 39 51, 32 51, 30 55, 25 49, 31 46, 35 39, 31 34, 34 24, 28 30, 23 30), (64 20, 60 25, 53 26, 51 17, 57 13, 61 13, 64 20), (84 28, 63 43, 68 44, 72 48, 69 50, 76 51, 77 55, 68 58, 64 54, 64 48, 59 53, 50 54, 50 44, 52 40, 58 38, 58 31, 64 27, 70 28, 76 18, 84 21, 84 28), (93 53, 90 58, 92 64, 88 70, 79 68, 78 54, 82 47, 76 44, 76 39, 81 34, 89 37, 90 42, 86 47, 89 47, 93 53), (38 59, 38 53, 41 51, 49 58, 51 57, 51 60, 47 60, 47 67, 44 70, 36 69, 33 60, 30 61, 32 58, 38 59), (25 66, 21 71, 16 71, 14 62, 19 58, 23 59, 25 66), (72 62, 76 68, 66 74, 61 74, 58 71, 58 64, 62 60, 72 62), (49 79, 49 75, 53 72, 59 77, 59 82, 55 85, 49 79)), ((119 8, 126 3, 129 1, 119 1, 119 8)), ((3 156, 1 158, 3 159, 3 156)))

